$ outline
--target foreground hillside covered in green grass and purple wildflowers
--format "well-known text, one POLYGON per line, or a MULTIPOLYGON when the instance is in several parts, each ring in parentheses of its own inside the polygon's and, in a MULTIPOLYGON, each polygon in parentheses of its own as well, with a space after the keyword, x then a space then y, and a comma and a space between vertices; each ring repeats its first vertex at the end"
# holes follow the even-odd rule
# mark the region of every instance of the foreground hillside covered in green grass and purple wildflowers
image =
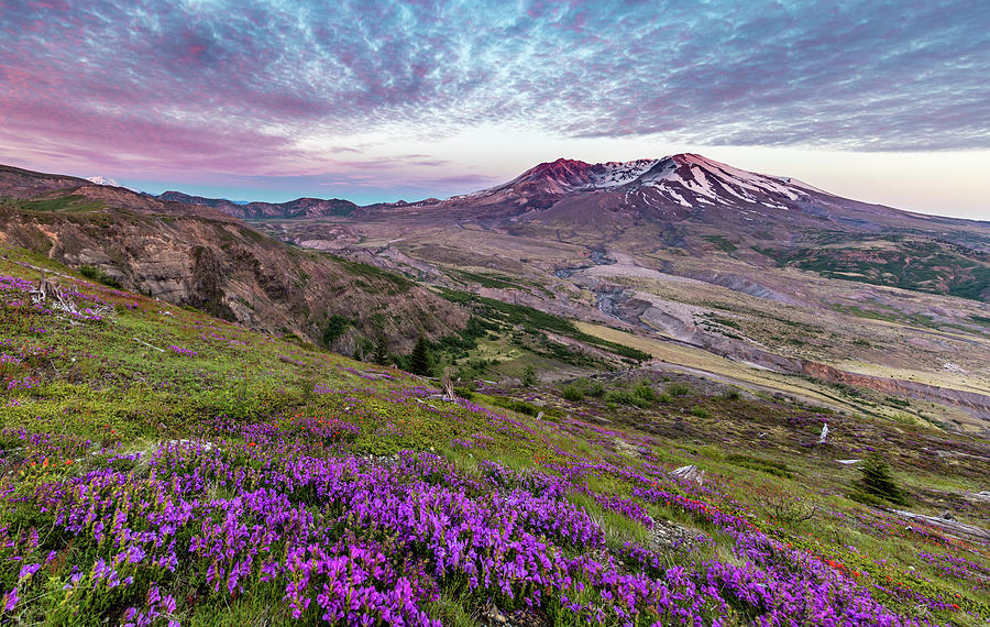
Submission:
POLYGON ((447 399, 66 272, 2 250, 4 622, 990 618, 986 440, 675 371, 447 399))

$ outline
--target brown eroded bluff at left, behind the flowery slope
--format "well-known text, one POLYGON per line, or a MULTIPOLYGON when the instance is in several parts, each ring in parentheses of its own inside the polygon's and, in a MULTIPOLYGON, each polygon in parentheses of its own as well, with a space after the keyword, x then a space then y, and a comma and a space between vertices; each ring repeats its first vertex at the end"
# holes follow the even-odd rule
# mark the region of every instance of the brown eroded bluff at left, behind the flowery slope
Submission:
POLYGON ((420 333, 438 339, 466 323, 398 275, 290 246, 220 209, 0 167, 0 241, 105 283, 318 342, 336 316, 345 321, 336 348, 348 353, 380 337, 400 353, 420 333))

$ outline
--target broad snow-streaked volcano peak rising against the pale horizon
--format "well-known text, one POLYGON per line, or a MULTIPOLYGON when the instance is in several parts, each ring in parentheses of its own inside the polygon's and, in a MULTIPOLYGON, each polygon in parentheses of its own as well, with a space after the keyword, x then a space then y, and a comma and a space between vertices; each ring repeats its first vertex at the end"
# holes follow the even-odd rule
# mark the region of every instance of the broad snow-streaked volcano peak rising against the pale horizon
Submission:
POLYGON ((433 216, 460 220, 573 224, 649 218, 690 219, 721 227, 831 224, 836 229, 876 230, 895 220, 930 219, 691 153, 597 164, 560 158, 488 189, 410 207, 429 207, 433 216))

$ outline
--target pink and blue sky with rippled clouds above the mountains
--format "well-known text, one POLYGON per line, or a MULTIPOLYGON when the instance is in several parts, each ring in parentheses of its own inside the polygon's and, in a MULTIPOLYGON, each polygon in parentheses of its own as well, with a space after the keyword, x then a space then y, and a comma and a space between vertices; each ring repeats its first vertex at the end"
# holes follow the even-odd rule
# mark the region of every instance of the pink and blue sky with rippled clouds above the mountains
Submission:
POLYGON ((679 152, 990 220, 990 9, 0 0, 9 165, 373 202, 679 152))

